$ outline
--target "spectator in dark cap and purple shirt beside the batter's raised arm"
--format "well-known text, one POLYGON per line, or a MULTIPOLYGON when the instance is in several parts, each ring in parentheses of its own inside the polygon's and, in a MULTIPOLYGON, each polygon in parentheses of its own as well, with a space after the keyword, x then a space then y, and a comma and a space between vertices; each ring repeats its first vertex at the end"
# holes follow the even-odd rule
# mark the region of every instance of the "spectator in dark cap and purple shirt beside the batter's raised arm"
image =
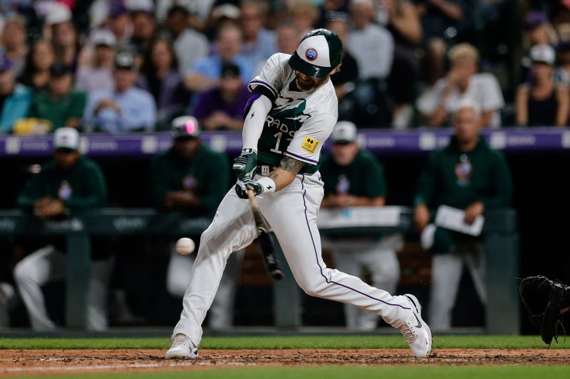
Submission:
POLYGON ((199 95, 194 116, 206 130, 242 130, 244 109, 249 99, 239 66, 224 63, 219 85, 199 95))

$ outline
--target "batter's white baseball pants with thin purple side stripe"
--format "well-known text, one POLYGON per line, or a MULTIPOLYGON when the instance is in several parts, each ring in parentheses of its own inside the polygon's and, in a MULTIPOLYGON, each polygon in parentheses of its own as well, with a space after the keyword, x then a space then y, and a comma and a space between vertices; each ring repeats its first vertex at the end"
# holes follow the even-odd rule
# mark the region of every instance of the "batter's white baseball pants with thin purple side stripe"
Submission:
MULTIPOLYGON (((407 298, 394 297, 358 277, 329 269, 324 264, 316 227, 322 199, 323 182, 318 173, 297 175, 281 191, 258 198, 259 209, 273 228, 297 284, 311 296, 372 311, 398 328, 410 315, 407 298)), ((202 322, 217 292, 229 255, 251 244, 256 234, 249 201, 239 198, 234 189, 230 189, 212 224, 202 234, 192 279, 182 301, 180 321, 172 337, 184 333, 193 343, 199 344, 202 322)))

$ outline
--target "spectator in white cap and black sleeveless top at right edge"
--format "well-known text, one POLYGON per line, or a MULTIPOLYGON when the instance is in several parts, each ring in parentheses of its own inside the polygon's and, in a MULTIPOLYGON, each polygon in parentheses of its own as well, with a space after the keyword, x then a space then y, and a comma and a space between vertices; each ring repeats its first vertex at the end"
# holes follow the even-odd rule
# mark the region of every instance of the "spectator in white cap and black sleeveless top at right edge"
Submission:
POLYGON ((570 97, 567 85, 553 80, 556 53, 550 45, 530 49, 532 82, 517 90, 517 124, 529 127, 564 127, 568 123, 570 97))

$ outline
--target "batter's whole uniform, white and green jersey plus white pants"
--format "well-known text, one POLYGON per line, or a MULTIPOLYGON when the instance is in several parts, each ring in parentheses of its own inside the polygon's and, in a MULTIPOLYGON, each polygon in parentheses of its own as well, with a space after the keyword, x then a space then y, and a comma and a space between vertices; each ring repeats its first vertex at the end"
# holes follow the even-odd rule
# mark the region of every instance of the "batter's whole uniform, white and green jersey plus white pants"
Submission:
MULTIPOLYGON (((392 296, 358 277, 329 269, 321 257, 316 219, 323 199, 323 182, 318 161, 321 147, 336 124, 338 100, 330 80, 309 92, 299 90, 295 71, 288 65, 290 56, 272 55, 261 75, 249 82, 250 91, 266 95, 273 104, 258 142, 258 167, 259 173, 269 174, 284 156, 306 165, 289 186, 259 196, 259 209, 273 228, 301 289, 312 296, 372 311, 398 328, 410 316, 410 302, 406 297, 392 296)), ((258 174, 256 179, 261 177, 258 174)), ((212 304, 229 255, 251 244, 256 235, 249 201, 239 198, 234 189, 230 189, 212 224, 202 234, 173 337, 184 333, 192 343, 199 345, 202 321, 212 304)))

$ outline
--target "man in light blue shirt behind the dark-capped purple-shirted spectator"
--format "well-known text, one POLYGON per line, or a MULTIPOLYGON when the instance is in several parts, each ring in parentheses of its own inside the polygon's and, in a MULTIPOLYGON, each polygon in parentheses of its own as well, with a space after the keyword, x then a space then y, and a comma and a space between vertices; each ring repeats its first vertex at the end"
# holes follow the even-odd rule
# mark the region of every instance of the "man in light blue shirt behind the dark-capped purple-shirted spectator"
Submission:
POLYGON ((242 80, 249 82, 252 77, 252 69, 249 61, 240 51, 242 50, 242 31, 231 24, 222 26, 217 38, 217 53, 197 60, 187 73, 185 78, 186 87, 194 92, 207 90, 217 85, 222 63, 232 62, 239 66, 242 80))

